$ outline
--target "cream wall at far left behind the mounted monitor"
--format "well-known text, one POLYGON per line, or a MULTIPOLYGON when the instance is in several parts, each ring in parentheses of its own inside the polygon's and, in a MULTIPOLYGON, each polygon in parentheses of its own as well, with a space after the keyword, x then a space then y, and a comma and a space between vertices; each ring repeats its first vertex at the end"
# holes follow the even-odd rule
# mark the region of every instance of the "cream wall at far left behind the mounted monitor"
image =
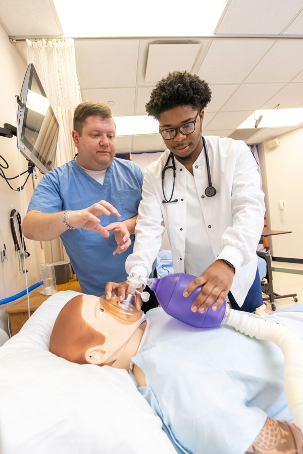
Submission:
MULTIPOLYGON (((20 94, 23 78, 26 72, 26 64, 16 50, 15 46, 10 43, 7 33, 0 25, 0 49, 2 68, 0 72, 0 126, 4 123, 10 123, 16 126, 16 103, 15 95, 20 94)), ((0 155, 3 156, 8 164, 8 169, 3 169, 7 178, 18 175, 18 157, 16 137, 0 137, 0 155)), ((0 164, 5 165, 0 158, 0 164)), ((20 171, 27 169, 27 160, 20 154, 20 171)), ((26 175, 21 177, 21 183, 25 181, 26 175)), ((13 188, 19 186, 19 179, 10 180, 13 188)), ((0 260, 0 299, 7 298, 26 288, 25 275, 20 274, 19 264, 17 261, 14 243, 10 230, 10 213, 13 208, 23 217, 26 213, 27 206, 33 192, 32 178, 30 177, 25 188, 21 191, 22 203, 20 201, 20 192, 13 191, 9 188, 6 181, 0 178, 0 231, 6 244, 8 261, 3 263, 0 260)), ((1 237, 0 237, 1 238, 1 237)), ((26 248, 30 257, 26 259, 28 269, 27 280, 28 286, 39 280, 39 263, 44 262, 44 253, 39 242, 26 240, 26 248)), ((2 240, 0 239, 0 248, 3 249, 2 240)), ((9 303, 9 306, 16 301, 9 303)), ((5 309, 7 305, 0 306, 0 328, 7 330, 7 315, 5 309)))

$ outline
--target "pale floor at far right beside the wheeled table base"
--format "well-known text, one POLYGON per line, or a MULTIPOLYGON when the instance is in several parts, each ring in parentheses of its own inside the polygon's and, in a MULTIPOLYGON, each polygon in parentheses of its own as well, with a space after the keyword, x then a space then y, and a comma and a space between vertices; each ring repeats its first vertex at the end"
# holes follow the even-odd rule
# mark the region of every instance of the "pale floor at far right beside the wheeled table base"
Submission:
MULTIPOLYGON (((296 293, 298 299, 297 303, 292 297, 275 300, 276 310, 303 303, 303 264, 272 262, 272 271, 274 292, 279 295, 296 293)), ((266 311, 272 312, 269 301, 266 301, 266 311)))

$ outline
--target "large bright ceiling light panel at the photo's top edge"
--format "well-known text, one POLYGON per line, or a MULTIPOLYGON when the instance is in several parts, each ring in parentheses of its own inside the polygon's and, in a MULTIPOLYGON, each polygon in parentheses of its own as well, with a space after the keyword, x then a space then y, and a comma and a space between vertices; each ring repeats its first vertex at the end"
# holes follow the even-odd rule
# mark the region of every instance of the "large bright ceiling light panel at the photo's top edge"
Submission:
POLYGON ((64 35, 73 38, 211 35, 227 4, 226 0, 53 1, 64 35))

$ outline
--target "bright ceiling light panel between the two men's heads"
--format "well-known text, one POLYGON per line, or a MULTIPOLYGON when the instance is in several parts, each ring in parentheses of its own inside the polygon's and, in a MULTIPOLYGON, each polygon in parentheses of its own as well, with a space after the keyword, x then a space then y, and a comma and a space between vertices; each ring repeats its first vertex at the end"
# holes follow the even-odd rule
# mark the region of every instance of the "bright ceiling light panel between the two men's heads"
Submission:
POLYGON ((133 117, 114 117, 117 136, 159 133, 159 122, 147 115, 133 117))

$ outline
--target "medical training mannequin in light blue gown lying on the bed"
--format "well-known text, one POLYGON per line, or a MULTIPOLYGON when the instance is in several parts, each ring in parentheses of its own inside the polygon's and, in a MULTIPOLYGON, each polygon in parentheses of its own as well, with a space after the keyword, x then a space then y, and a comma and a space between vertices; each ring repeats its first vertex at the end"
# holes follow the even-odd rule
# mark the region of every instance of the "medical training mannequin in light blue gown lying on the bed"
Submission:
MULTIPOLYGON (((280 314, 280 317, 282 315, 280 314)), ((287 315, 285 315, 286 317, 287 315)), ((264 385, 263 390, 260 387, 260 381, 263 380, 263 377, 260 378, 257 373, 255 374, 254 368, 258 365, 258 361, 260 360, 262 363, 264 361, 263 355, 265 355, 265 359, 266 355, 269 355, 269 359, 272 360, 270 368, 274 369, 272 372, 273 376, 279 375, 279 361, 282 369, 281 376, 283 375, 283 359, 279 356, 280 352, 277 353, 275 350, 279 350, 278 347, 266 342, 260 343, 256 339, 249 339, 228 327, 199 330, 198 328, 187 326, 169 317, 163 312, 162 308, 149 311, 145 319, 142 321, 142 312, 126 310, 117 297, 106 301, 103 298, 91 295, 79 295, 70 300, 59 313, 51 335, 50 350, 62 358, 79 364, 90 363, 126 369, 134 377, 138 390, 148 402, 146 393, 149 396, 150 394, 154 396, 153 392, 155 392, 156 400, 154 399, 154 401, 156 406, 160 406, 160 412, 155 410, 153 399, 151 399, 149 404, 156 414, 161 417, 163 429, 170 436, 177 452, 193 452, 194 454, 197 452, 203 452, 204 454, 212 454, 212 452, 218 454, 228 454, 229 452, 232 454, 250 452, 259 452, 260 454, 291 452, 299 454, 303 452, 301 450, 303 436, 300 430, 293 423, 277 421, 267 417, 267 415, 272 415, 270 411, 265 413, 265 409, 272 409, 273 406, 277 405, 276 401, 280 402, 281 394, 283 394, 282 379, 280 383, 279 379, 276 380, 276 378, 271 378, 269 375, 266 376, 265 382, 267 384, 264 385), (186 350, 187 347, 182 345, 190 336, 195 336, 188 341, 191 345, 192 341, 196 341, 197 336, 200 338, 200 345, 196 349, 197 354, 195 353, 196 360, 192 358, 191 351, 186 350), (214 404, 210 403, 209 399, 211 396, 209 394, 212 393, 207 389, 207 380, 209 371, 212 372, 212 363, 216 362, 218 352, 216 352, 214 358, 210 357, 211 359, 209 359, 209 357, 206 357, 206 361, 199 358, 199 352, 201 352, 201 357, 204 354, 209 354, 210 349, 206 343, 209 342, 210 336, 212 337, 211 343, 216 344, 218 342, 219 345, 220 342, 223 345, 230 345, 230 336, 236 336, 237 343, 239 338, 243 338, 244 343, 256 346, 257 352, 260 351, 262 354, 260 358, 251 358, 253 363, 251 365, 252 372, 250 373, 248 370, 245 377, 248 384, 243 382, 243 387, 247 386, 249 389, 247 396, 245 394, 244 398, 241 386, 237 384, 238 376, 233 371, 233 360, 238 363, 244 361, 247 355, 249 357, 250 352, 247 352, 246 345, 243 349, 245 351, 243 354, 244 359, 241 358, 241 353, 239 352, 236 359, 234 355, 231 356, 230 365, 228 362, 225 365, 222 363, 222 370, 215 370, 215 376, 219 373, 219 378, 218 384, 215 385, 217 389, 214 393, 214 404), (226 339, 225 336, 227 336, 226 339), (159 342, 158 339, 160 339, 159 342), (176 339, 179 339, 177 341, 177 343, 179 342, 177 353, 178 349, 180 349, 179 357, 174 355, 176 339), (227 343, 226 340, 228 341, 227 343), (203 348, 204 345, 206 346, 205 349, 203 348), (185 355, 182 354, 183 347, 186 347, 185 355), (163 356, 163 352, 166 356, 163 356), (163 358, 166 358, 165 361, 163 361, 163 358), (148 370, 148 367, 145 369, 146 364, 150 363, 150 361, 150 370, 148 370), (153 361, 155 361, 155 364, 153 361), (177 366, 179 368, 174 369, 174 362, 178 363, 177 366), (203 369, 197 371, 200 364, 203 365, 203 369), (155 366, 157 367, 156 369, 155 366), (170 375, 171 369, 174 369, 172 375, 170 375), (177 373, 175 373, 175 370, 177 370, 177 373), (225 379, 225 375, 229 373, 231 374, 231 380, 229 378, 225 379), (195 376, 195 374, 199 377, 199 383, 198 386, 191 386, 191 376, 195 376), (158 391, 154 389, 155 380, 155 388, 159 386, 157 376, 158 382, 160 381, 160 391, 159 389, 158 391), (176 382, 184 380, 181 391, 179 390, 178 392, 178 388, 176 391, 174 380, 176 382), (270 380, 272 380, 272 383, 270 380), (230 392, 228 389, 229 383, 233 387, 233 381, 235 387, 234 395, 232 394, 233 391, 230 392), (186 387, 187 383, 188 388, 186 387), (220 389, 221 386, 224 388, 223 391, 220 389), (262 409, 264 396, 266 400, 266 395, 271 388, 276 390, 276 394, 272 402, 269 400, 265 408, 262 409), (255 393, 252 393, 251 389, 255 393), (171 395, 168 395, 168 401, 163 401, 162 391, 166 394, 167 391, 168 394, 171 392, 171 395), (220 392, 223 398, 218 404, 216 399, 220 392), (231 396, 230 401, 228 400, 229 396, 231 396), (174 402, 174 399, 177 406, 174 409, 174 413, 179 413, 180 417, 179 419, 168 421, 166 407, 172 405, 171 403, 174 402), (242 402, 243 399, 245 399, 244 404, 242 402), (237 402, 238 400, 239 402, 237 402), (194 408, 197 404, 198 415, 196 416, 194 408), (189 407, 190 413, 186 413, 186 406, 189 407), (211 430, 206 429, 205 431, 205 426, 208 424, 207 419, 213 417, 212 413, 216 414, 217 407, 219 412, 222 412, 223 423, 215 420, 215 424, 211 423, 211 430), (260 407, 260 409, 256 407, 260 407), (228 417, 225 415, 226 412, 228 417), (225 423, 227 429, 224 429, 225 423), (243 428, 245 428, 245 431, 247 430, 247 434, 242 439, 243 428), (227 435, 224 430, 227 431, 227 435), (219 440, 221 434, 222 438, 224 438, 223 441, 219 440), (205 438, 207 438, 206 441, 205 438), (193 445, 190 444, 192 440, 194 440, 193 445), (224 443, 226 443, 226 446, 222 447, 224 443)), ((222 361, 224 361, 226 356, 228 356, 228 352, 224 351, 222 361)), ((250 358, 247 361, 249 362, 250 358)), ((241 369, 241 366, 239 366, 239 369, 241 369)), ((270 369, 266 373, 268 374, 269 371, 270 369)), ((239 373, 244 380, 244 373, 241 370, 239 370, 239 373)), ((212 377, 210 377, 210 380, 212 380, 212 377)), ((286 404, 282 405, 280 403, 279 405, 279 410, 276 413, 279 414, 279 419, 289 419, 289 416, 287 417, 287 409, 285 410, 286 404), (284 416, 285 414, 286 417, 284 416)), ((168 418, 170 418, 170 415, 168 418)))

